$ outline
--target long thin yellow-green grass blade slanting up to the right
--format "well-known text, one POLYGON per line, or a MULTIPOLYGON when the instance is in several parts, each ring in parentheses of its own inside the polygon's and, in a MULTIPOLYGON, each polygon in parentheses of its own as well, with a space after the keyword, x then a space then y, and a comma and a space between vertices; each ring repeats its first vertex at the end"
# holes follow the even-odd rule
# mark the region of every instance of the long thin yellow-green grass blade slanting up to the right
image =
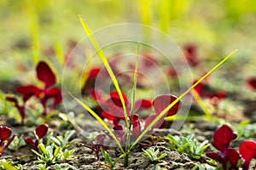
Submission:
POLYGON ((193 86, 191 86, 188 90, 186 90, 183 94, 181 94, 177 99, 175 99, 172 104, 168 105, 166 107, 166 109, 162 112, 160 112, 160 114, 158 116, 155 117, 155 119, 148 125, 147 128, 144 129, 143 133, 141 133, 139 135, 139 137, 136 139, 136 141, 131 145, 131 148, 130 150, 141 140, 143 139, 143 137, 148 133, 148 131, 154 126, 154 124, 156 122, 158 122, 165 114, 167 111, 169 111, 174 105, 177 104, 178 101, 180 101, 181 99, 183 99, 183 97, 187 94, 189 94, 189 92, 195 88, 195 86, 197 86, 201 81, 203 81, 204 79, 206 79, 210 74, 212 74, 213 71, 215 71, 216 69, 218 69, 218 67, 220 65, 223 65, 224 62, 227 60, 227 59, 230 59, 230 57, 233 55, 233 54, 236 54, 238 49, 234 50, 231 54, 229 54, 228 56, 226 56, 223 60, 221 60, 218 65, 215 65, 212 70, 208 71, 206 75, 204 75, 203 77, 201 77, 197 82, 195 82, 195 84, 193 86))

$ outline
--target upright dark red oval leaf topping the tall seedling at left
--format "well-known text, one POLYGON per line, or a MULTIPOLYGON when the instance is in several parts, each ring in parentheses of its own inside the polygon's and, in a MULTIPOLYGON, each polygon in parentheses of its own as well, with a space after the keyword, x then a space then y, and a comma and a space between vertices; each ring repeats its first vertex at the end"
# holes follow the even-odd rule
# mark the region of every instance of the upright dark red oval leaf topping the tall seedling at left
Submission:
POLYGON ((44 61, 38 63, 37 76, 38 80, 44 82, 45 88, 55 84, 55 74, 44 61))

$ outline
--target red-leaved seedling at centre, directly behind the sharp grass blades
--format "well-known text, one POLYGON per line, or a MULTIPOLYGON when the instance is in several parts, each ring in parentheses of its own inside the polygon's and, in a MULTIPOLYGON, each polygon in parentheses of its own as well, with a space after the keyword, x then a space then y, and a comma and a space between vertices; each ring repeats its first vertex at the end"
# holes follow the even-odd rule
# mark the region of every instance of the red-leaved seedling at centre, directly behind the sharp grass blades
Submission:
MULTIPOLYGON (((170 105, 175 99, 177 99, 173 95, 160 95, 156 99, 151 102, 149 99, 140 99, 135 102, 134 106, 134 114, 131 113, 131 105, 126 97, 125 94, 123 94, 123 97, 125 99, 125 107, 127 116, 129 116, 129 119, 131 120, 131 137, 133 139, 137 139, 140 133, 148 127, 148 125, 154 120, 156 116, 160 114, 161 111, 164 111, 164 109, 170 105), (147 117, 145 121, 143 119, 139 118, 139 111, 142 109, 148 109, 154 107, 154 114, 147 117)), ((125 144, 125 132, 123 131, 125 128, 119 125, 119 122, 121 120, 125 120, 123 108, 121 105, 121 100, 119 98, 119 94, 117 92, 112 92, 110 94, 109 99, 103 104, 104 105, 104 111, 102 111, 102 116, 107 118, 108 120, 113 122, 113 130, 116 130, 116 135, 119 137, 119 142, 121 144, 125 144)), ((166 112, 166 115, 163 116, 160 121, 154 124, 154 127, 151 128, 150 132, 154 130, 156 127, 164 127, 165 126, 165 120, 164 118, 166 116, 173 116, 177 113, 179 107, 181 105, 181 102, 179 101, 176 105, 172 107, 169 111, 166 112)), ((148 132, 148 133, 150 133, 148 132)))

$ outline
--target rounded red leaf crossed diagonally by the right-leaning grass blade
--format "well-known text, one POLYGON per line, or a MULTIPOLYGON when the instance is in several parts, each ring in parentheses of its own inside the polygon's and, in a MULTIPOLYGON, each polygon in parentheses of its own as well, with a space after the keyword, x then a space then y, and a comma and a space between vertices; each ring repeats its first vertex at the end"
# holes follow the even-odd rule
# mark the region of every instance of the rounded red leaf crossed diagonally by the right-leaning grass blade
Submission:
MULTIPOLYGON (((153 107, 154 107, 154 111, 157 115, 160 114, 160 112, 164 111, 166 109, 166 107, 170 104, 172 104, 172 102, 177 99, 176 96, 174 95, 160 95, 158 96, 156 99, 154 99, 153 101, 153 107)), ((173 105, 173 107, 167 111, 167 116, 172 116, 175 115, 179 109, 181 105, 181 102, 178 101, 177 104, 173 105)))

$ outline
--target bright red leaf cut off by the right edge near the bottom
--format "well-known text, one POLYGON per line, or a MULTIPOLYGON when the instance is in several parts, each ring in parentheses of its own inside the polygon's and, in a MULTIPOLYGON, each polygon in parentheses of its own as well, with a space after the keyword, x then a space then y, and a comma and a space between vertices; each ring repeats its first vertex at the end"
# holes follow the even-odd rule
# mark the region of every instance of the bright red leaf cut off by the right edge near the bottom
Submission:
POLYGON ((239 146, 239 152, 241 157, 250 162, 252 159, 256 159, 256 142, 244 141, 239 146))

